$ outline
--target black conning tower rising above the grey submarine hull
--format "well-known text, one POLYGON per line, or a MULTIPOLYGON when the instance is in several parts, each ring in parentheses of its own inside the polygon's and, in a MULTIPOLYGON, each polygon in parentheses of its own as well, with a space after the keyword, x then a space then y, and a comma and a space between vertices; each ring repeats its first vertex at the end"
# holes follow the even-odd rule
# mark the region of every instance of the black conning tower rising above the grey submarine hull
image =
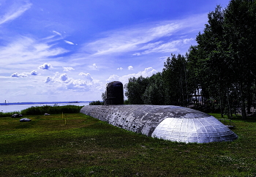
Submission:
POLYGON ((113 81, 107 84, 105 105, 124 105, 123 84, 113 81))

